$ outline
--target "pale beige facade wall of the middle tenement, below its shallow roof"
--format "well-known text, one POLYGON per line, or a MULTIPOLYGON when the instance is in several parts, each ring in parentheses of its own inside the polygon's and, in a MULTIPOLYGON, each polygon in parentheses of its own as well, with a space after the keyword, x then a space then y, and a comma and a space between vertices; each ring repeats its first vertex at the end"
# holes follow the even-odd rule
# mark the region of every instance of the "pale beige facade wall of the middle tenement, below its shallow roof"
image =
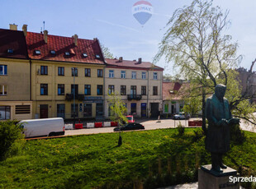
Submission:
MULTIPOLYGON (((136 117, 141 117, 141 104, 146 104, 146 116, 150 116, 150 104, 158 103, 159 111, 162 108, 162 78, 163 71, 147 71, 135 69, 122 69, 107 67, 105 70, 105 99, 108 99, 108 86, 114 85, 115 91, 121 93, 121 85, 126 85, 126 95, 121 95, 121 99, 126 103, 127 114, 131 113, 131 104, 136 104, 136 117), (109 77, 109 71, 114 70, 114 77, 109 77), (126 78, 121 78, 121 71, 126 71, 126 78), (136 72, 136 79, 131 79, 132 71, 136 72), (142 79, 142 72, 146 72, 146 79, 142 79), (157 80, 154 80, 154 72, 158 73, 157 80), (136 95, 141 95, 141 86, 146 86, 146 95, 142 95, 140 100, 128 100, 127 95, 131 95, 130 86, 136 86, 136 95), (158 87, 158 95, 153 95, 153 86, 158 87)), ((105 101, 105 117, 108 118, 108 103, 105 101)))

